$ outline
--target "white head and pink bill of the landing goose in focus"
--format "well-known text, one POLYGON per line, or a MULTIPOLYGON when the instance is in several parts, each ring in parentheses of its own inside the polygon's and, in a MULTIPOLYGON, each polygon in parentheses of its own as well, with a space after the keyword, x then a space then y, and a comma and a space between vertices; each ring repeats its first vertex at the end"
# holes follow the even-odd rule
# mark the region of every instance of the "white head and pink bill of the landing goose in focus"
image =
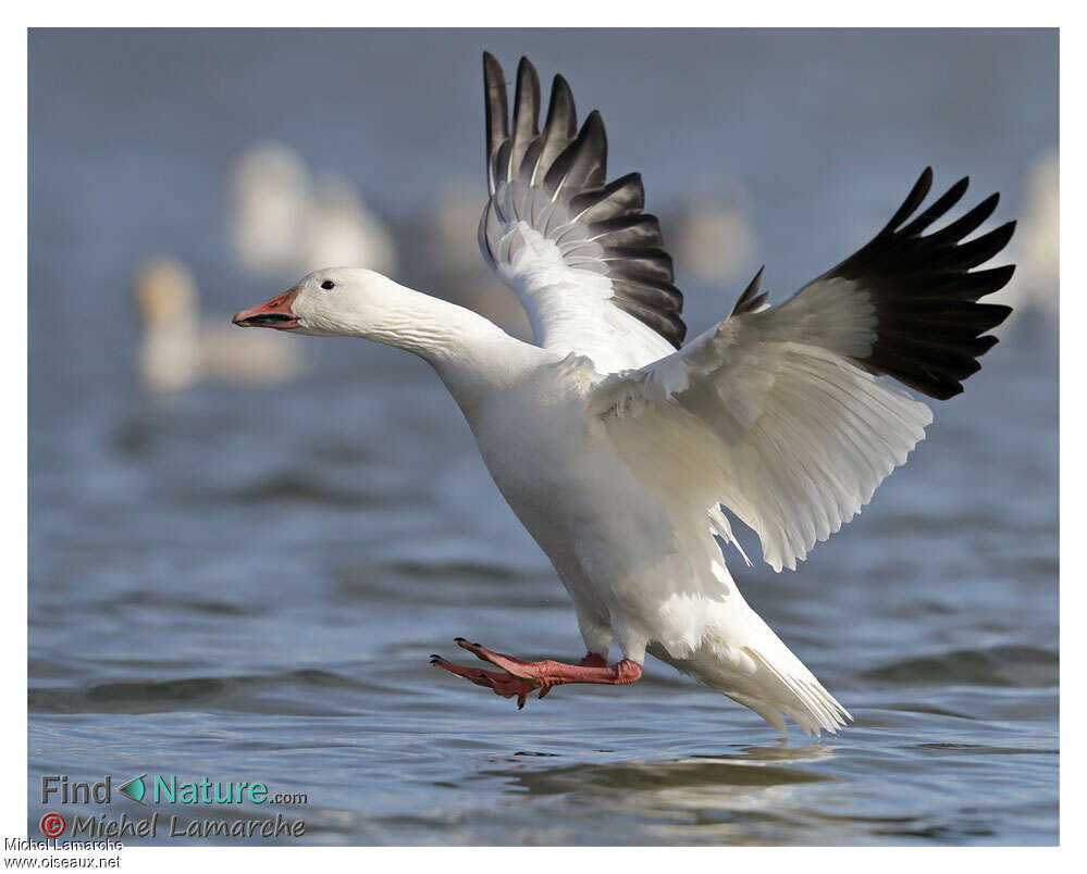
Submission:
POLYGON ((362 267, 314 271, 293 288, 234 316, 239 327, 268 327, 319 336, 394 342, 418 291, 362 267))

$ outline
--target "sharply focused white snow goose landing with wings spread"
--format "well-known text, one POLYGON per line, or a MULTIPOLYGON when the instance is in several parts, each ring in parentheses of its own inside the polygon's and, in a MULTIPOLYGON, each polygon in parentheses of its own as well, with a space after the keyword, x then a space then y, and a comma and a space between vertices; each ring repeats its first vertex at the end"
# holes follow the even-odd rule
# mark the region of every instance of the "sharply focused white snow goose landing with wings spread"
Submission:
POLYGON ((851 520, 925 436, 934 398, 962 390, 1005 307, 978 303, 1013 267, 972 271, 1013 224, 968 242, 992 196, 925 234, 966 179, 917 214, 926 170, 866 246, 775 308, 762 271, 719 324, 683 345, 683 298, 638 174, 606 179, 597 112, 580 130, 561 76, 538 127, 521 60, 512 117, 502 67, 485 80, 484 258, 539 345, 371 271, 336 267, 235 316, 238 325, 363 337, 425 359, 464 411, 491 475, 569 592, 586 654, 523 661, 467 639, 490 670, 432 663, 505 698, 568 683, 627 684, 646 652, 782 734, 850 720, 748 605, 725 565, 728 508, 775 570, 851 520), (616 644, 621 658, 608 663, 616 644))

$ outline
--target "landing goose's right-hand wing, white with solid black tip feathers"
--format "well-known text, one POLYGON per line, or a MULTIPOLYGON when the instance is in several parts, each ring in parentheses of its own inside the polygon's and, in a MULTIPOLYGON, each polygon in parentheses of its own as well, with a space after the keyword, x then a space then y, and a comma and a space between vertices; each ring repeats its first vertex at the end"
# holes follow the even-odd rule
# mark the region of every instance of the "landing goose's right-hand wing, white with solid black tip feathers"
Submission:
POLYGON ((1008 244, 1015 223, 962 241, 996 209, 993 195, 923 235, 967 185, 910 221, 931 183, 927 168, 870 242, 781 305, 759 309, 756 276, 719 325, 596 388, 594 409, 630 463, 664 495, 685 477, 726 539, 718 502, 732 510, 777 571, 856 515, 924 438, 929 409, 876 375, 934 398, 956 395, 997 342, 985 332, 1011 312, 978 300, 1014 266, 972 267, 1008 244))

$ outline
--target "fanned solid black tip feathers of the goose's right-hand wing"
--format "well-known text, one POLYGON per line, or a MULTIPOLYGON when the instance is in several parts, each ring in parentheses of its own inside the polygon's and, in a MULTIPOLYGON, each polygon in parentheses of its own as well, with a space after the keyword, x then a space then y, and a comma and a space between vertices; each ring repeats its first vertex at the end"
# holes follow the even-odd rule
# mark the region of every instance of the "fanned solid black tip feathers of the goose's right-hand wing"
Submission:
POLYGON ((923 236, 962 199, 968 179, 955 183, 904 224, 931 185, 932 170, 926 167, 887 226, 819 278, 851 279, 872 297, 877 338, 868 357, 857 363, 943 400, 962 391, 962 380, 980 370, 977 358, 997 342, 985 332, 1011 312, 1010 307, 978 300, 1003 288, 1014 265, 973 269, 1008 245, 1015 222, 962 241, 996 210, 999 195, 992 195, 947 227, 923 236))

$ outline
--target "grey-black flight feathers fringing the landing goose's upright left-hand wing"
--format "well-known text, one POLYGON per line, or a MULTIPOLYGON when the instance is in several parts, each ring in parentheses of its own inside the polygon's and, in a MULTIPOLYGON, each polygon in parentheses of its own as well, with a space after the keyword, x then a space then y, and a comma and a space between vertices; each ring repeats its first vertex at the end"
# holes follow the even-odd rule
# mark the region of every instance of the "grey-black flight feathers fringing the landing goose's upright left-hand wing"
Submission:
MULTIPOLYGON (((490 52, 483 53, 483 80, 491 192, 479 229, 483 257, 495 263, 502 222, 514 220, 504 214, 505 207, 498 202, 503 186, 516 180, 542 188, 548 200, 566 210, 569 221, 583 224, 589 239, 603 248, 612 302, 678 349, 687 326, 680 317, 683 296, 672 285, 671 259, 664 250, 656 217, 642 213, 645 196, 641 177, 631 173, 607 183, 607 136, 600 113, 591 112, 579 132, 570 86, 555 76, 541 133, 540 82, 532 64, 522 58, 510 128, 504 74, 490 52)), ((551 223, 557 224, 557 220, 553 217, 551 223)), ((548 233, 555 227, 538 229, 548 233)), ((571 251, 570 257, 576 255, 571 251)))

